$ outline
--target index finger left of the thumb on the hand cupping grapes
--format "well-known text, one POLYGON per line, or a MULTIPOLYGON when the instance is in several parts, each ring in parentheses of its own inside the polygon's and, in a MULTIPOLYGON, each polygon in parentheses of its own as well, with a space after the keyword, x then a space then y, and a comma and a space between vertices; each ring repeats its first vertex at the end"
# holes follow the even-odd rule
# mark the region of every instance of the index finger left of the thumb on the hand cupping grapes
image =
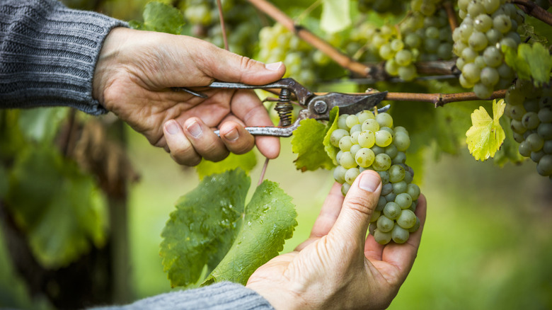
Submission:
POLYGON ((309 236, 309 239, 306 239, 299 244, 299 246, 295 248, 295 251, 301 251, 306 246, 309 246, 309 244, 320 239, 322 236, 326 236, 333 227, 333 224, 335 224, 335 220, 338 219, 339 212, 341 211, 341 205, 343 205, 341 184, 335 182, 330 190, 330 193, 326 196, 326 200, 324 200, 320 214, 318 214, 318 217, 314 222, 314 226, 311 230, 311 236, 309 236))

